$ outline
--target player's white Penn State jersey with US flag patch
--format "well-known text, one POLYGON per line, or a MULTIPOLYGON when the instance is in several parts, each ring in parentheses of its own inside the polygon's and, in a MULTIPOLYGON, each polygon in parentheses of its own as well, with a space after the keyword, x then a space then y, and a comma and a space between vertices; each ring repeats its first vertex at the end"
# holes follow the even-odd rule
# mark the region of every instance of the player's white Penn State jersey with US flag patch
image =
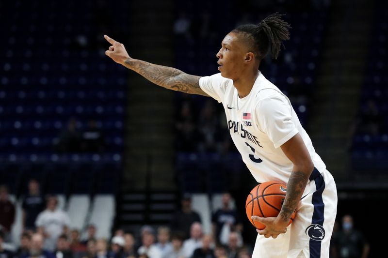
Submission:
POLYGON ((233 80, 216 74, 201 77, 203 91, 222 103, 227 125, 242 160, 257 182, 288 182, 293 164, 280 146, 297 133, 322 172, 326 166, 315 152, 290 100, 260 72, 249 94, 240 98, 233 80))

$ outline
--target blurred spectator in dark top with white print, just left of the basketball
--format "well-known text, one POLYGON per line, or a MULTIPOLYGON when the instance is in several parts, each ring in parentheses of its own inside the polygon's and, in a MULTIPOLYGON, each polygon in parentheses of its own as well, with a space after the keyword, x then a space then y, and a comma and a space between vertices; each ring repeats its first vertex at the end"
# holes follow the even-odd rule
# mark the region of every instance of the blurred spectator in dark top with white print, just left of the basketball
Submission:
POLYGON ((222 244, 228 243, 228 235, 230 231, 242 230, 238 213, 235 209, 230 207, 230 194, 224 193, 222 195, 222 208, 214 212, 211 220, 213 223, 213 232, 217 240, 222 244), (221 232, 223 233, 221 235, 221 232))

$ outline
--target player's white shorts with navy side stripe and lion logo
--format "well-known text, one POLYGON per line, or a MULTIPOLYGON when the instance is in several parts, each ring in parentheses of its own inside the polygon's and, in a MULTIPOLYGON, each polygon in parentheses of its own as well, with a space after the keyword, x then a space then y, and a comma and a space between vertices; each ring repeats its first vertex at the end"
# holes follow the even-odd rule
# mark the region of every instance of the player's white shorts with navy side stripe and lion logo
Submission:
POLYGON ((297 207, 294 221, 277 238, 256 239, 252 258, 329 258, 337 215, 337 187, 326 169, 316 168, 297 207))

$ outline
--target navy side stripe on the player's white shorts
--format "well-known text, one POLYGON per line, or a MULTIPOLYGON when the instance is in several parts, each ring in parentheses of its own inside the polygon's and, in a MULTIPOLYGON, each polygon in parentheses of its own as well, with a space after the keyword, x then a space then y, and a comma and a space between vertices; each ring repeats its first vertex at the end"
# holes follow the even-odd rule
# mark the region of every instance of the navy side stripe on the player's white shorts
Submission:
MULTIPOLYGON (((311 173, 310 180, 314 180, 317 190, 312 194, 312 204, 314 205, 314 212, 312 213, 311 224, 318 224, 323 227, 324 221, 324 203, 322 198, 322 193, 325 188, 325 183, 323 176, 314 167, 314 170, 311 173)), ((320 258, 321 257, 321 241, 310 239, 310 258, 320 258)))

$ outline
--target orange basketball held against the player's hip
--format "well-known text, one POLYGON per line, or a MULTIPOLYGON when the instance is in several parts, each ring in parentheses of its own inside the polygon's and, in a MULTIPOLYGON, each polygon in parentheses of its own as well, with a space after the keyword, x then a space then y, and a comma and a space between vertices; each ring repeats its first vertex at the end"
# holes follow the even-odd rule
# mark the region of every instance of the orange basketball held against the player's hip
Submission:
MULTIPOLYGON (((252 220, 252 216, 276 217, 286 197, 287 186, 274 181, 263 182, 255 186, 246 198, 245 210, 249 221, 255 228, 264 229, 265 225, 259 221, 252 220)), ((291 215, 288 225, 295 218, 296 212, 291 215)))

